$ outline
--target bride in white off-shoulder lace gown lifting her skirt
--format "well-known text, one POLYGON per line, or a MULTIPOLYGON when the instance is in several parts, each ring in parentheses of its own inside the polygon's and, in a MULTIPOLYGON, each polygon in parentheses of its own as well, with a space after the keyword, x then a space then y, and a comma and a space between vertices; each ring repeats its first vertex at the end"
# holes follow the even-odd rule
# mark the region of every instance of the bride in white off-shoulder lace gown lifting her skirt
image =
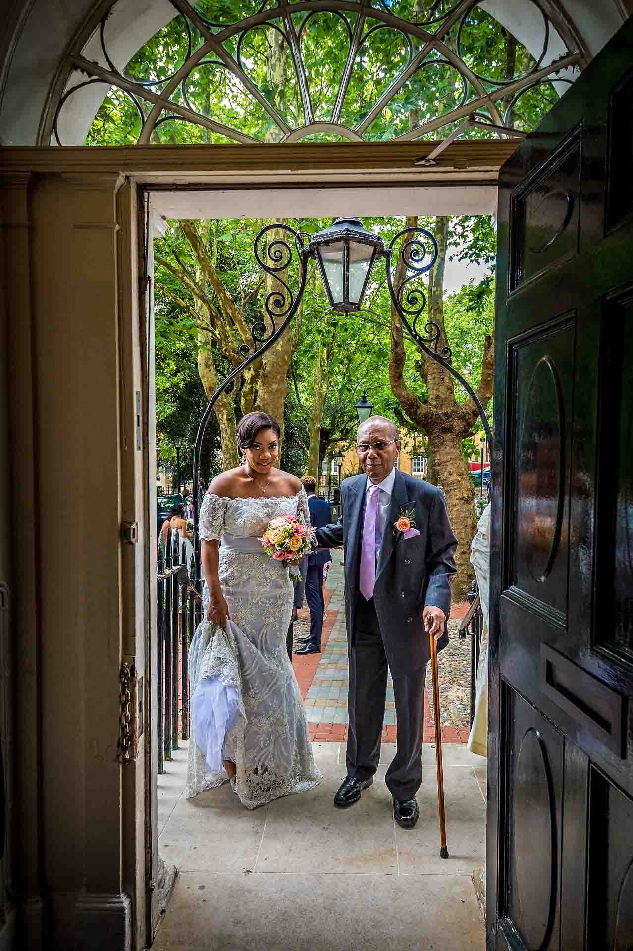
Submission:
POLYGON ((230 779, 249 809, 321 781, 286 652, 293 583, 259 543, 278 515, 310 523, 301 483, 273 467, 279 437, 277 420, 248 413, 238 426, 243 465, 214 478, 204 496, 205 617, 189 648, 186 796, 230 779))

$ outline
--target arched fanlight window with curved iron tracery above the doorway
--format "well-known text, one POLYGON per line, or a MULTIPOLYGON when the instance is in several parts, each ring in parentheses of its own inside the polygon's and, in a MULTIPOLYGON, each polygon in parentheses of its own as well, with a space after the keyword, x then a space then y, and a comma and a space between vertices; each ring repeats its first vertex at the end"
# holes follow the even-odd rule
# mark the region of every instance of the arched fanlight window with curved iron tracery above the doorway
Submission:
POLYGON ((536 126, 582 65, 540 0, 118 0, 70 53, 44 141, 486 138, 536 126))

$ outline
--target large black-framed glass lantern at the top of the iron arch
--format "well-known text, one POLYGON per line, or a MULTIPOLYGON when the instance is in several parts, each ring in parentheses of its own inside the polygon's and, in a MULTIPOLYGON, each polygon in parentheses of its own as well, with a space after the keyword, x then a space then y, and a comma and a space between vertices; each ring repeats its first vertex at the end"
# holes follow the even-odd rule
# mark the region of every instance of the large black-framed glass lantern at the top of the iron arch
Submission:
POLYGON ((385 243, 358 218, 337 218, 319 231, 308 246, 334 310, 359 310, 374 269, 376 257, 385 253, 385 243))

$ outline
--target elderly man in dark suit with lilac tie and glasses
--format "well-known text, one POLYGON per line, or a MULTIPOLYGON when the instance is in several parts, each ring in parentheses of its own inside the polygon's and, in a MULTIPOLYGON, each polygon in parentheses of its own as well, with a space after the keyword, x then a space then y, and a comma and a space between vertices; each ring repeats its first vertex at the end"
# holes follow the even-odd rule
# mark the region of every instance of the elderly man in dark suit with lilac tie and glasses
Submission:
POLYGON ((336 525, 317 529, 317 545, 345 548, 350 727, 347 776, 335 805, 353 805, 374 781, 389 665, 397 739, 385 782, 393 796, 395 821, 412 828, 419 816, 415 793, 422 781, 429 635, 438 650, 448 644, 457 540, 444 496, 429 482, 395 469, 399 452, 391 419, 365 420, 356 435, 365 474, 341 483, 340 518, 336 525))

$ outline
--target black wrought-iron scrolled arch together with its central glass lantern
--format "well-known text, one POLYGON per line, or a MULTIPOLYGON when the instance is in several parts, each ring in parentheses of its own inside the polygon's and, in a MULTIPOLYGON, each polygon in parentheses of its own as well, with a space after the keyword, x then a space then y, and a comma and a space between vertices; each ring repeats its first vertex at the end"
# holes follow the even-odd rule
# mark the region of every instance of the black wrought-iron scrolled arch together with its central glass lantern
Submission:
MULTIPOLYGON (((244 370, 269 350, 290 325, 303 299, 308 262, 311 258, 317 261, 332 309, 343 313, 360 310, 372 279, 374 264, 378 258, 385 259, 389 294, 402 326, 419 350, 440 363, 464 387, 479 411, 489 446, 492 445, 484 407, 468 380, 452 366, 451 347, 443 339, 439 324, 434 320, 427 320, 418 329, 417 321, 427 305, 426 285, 421 279, 431 270, 438 255, 437 242, 431 231, 418 226, 403 228, 394 235, 389 244, 385 244, 379 235, 367 230, 357 218, 338 218, 329 228, 319 231, 316 235, 296 231, 289 224, 275 223, 260 229, 253 253, 261 269, 275 280, 276 289, 267 294, 264 300, 266 320, 257 320, 251 327, 252 346, 246 342, 240 345, 240 356, 243 358, 240 366, 232 370, 221 383, 202 414, 194 447, 194 486, 199 483, 202 440, 216 402, 222 393, 232 389, 244 370), (273 232, 270 240, 269 232, 273 232), (287 240, 280 237, 283 232, 287 240), (401 242, 401 245, 398 245, 398 242, 401 242), (294 255, 298 260, 297 272, 290 268, 294 255), (298 273, 296 290, 291 289, 288 282, 291 281, 293 273, 298 273), (404 277, 398 286, 394 287, 393 277, 396 273, 404 274, 404 277)), ((361 413, 366 413, 364 418, 367 418, 373 409, 367 395, 363 393, 360 404, 356 404, 359 421, 363 421, 361 413)), ((194 494, 196 570, 200 588, 198 519, 202 496, 203 487, 201 492, 194 494)))

